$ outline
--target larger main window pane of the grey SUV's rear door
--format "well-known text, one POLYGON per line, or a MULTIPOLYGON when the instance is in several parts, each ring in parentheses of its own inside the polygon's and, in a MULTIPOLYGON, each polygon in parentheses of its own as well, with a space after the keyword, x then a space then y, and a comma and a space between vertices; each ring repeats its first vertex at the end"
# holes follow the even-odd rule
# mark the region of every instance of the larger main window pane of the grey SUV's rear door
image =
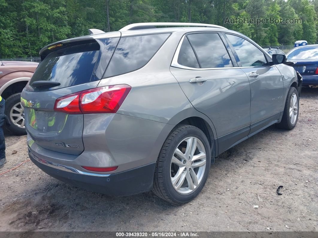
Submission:
POLYGON ((218 33, 196 33, 187 37, 197 54, 201 68, 233 67, 218 33))

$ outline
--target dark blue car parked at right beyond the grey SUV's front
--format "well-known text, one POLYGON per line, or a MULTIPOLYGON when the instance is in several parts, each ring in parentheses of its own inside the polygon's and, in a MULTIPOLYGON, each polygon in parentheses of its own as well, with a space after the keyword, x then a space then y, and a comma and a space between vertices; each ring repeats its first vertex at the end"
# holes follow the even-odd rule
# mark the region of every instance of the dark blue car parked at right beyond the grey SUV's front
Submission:
POLYGON ((303 86, 318 87, 318 44, 294 48, 287 58, 295 63, 293 67, 301 74, 303 86))

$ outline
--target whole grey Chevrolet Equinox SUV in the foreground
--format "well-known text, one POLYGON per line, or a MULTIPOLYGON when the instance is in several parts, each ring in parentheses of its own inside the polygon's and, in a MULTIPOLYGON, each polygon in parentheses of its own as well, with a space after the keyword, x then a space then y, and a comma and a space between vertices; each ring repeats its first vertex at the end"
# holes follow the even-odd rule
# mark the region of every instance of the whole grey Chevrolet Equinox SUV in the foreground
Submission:
POLYGON ((44 47, 21 95, 29 156, 54 178, 112 195, 152 189, 182 204, 217 155, 275 123, 296 126, 301 76, 236 31, 91 32, 44 47))

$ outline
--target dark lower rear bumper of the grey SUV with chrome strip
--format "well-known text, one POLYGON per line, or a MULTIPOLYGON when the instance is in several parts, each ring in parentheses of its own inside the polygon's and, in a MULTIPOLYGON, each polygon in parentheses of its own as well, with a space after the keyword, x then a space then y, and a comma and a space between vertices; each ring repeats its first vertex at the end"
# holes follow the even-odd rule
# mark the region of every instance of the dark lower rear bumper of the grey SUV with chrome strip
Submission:
POLYGON ((30 148, 29 157, 36 166, 53 178, 86 190, 115 196, 139 194, 152 189, 156 167, 156 162, 153 162, 119 173, 96 174, 38 158, 30 148))

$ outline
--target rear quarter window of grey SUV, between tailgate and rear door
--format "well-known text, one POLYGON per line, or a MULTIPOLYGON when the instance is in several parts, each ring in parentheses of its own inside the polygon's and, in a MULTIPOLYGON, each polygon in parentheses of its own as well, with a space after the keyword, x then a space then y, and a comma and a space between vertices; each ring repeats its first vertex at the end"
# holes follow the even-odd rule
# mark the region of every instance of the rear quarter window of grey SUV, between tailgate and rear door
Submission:
POLYGON ((122 37, 104 78, 142 68, 159 50, 169 35, 170 33, 122 37))

